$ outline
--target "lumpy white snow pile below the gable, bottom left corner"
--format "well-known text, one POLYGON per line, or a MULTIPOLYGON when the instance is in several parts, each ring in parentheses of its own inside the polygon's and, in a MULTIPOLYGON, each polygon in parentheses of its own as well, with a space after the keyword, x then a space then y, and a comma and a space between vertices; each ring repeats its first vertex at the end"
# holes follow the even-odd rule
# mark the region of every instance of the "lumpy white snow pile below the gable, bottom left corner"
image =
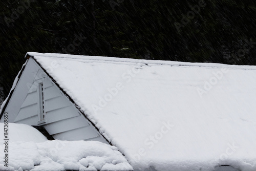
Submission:
POLYGON ((46 141, 31 126, 9 123, 9 127, 12 131, 9 132, 8 167, 3 164, 5 145, 0 141, 1 171, 133 170, 115 146, 97 141, 46 141))

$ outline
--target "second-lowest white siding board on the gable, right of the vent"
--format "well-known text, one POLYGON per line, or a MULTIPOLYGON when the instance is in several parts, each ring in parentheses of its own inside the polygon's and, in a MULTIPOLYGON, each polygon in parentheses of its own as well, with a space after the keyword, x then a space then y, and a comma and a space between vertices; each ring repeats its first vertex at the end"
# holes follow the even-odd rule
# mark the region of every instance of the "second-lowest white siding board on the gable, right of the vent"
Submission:
POLYGON ((70 130, 78 129, 79 127, 89 126, 89 123, 83 116, 77 116, 58 122, 45 125, 45 129, 50 135, 58 134, 70 130))

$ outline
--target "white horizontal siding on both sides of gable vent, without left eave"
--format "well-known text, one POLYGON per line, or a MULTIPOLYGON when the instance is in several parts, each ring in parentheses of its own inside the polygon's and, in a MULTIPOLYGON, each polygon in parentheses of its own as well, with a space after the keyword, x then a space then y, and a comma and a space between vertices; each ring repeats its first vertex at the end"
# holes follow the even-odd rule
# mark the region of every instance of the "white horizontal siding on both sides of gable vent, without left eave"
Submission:
POLYGON ((39 92, 37 87, 42 81, 45 123, 40 123, 40 125, 44 126, 50 135, 59 140, 95 140, 108 143, 55 83, 42 72, 44 71, 39 68, 35 73, 34 81, 28 88, 29 91, 25 95, 14 122, 38 125, 39 92))

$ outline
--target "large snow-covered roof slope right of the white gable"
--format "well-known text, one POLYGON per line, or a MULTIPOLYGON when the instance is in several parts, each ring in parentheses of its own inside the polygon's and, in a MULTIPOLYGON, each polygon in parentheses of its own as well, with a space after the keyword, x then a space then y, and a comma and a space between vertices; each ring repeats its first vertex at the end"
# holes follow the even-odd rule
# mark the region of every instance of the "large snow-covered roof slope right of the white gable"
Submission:
POLYGON ((134 169, 256 169, 255 66, 28 54, 134 169))

